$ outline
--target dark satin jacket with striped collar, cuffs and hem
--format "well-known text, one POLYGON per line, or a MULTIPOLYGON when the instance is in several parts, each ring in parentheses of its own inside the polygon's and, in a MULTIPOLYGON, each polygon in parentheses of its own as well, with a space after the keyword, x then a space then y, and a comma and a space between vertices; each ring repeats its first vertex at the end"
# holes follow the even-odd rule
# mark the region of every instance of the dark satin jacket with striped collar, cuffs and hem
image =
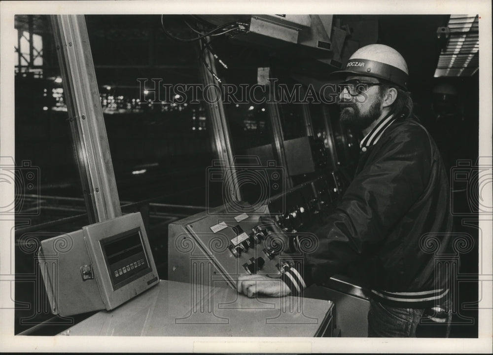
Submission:
POLYGON ((339 206, 311 230, 315 250, 304 254, 303 266, 292 265, 297 273, 285 267, 296 276, 288 285, 296 294, 361 263, 364 286, 375 298, 428 307, 448 293, 447 278, 435 277, 435 264, 436 256, 449 250, 452 224, 450 189, 436 144, 416 121, 390 117, 373 142, 363 143, 355 178, 339 206))

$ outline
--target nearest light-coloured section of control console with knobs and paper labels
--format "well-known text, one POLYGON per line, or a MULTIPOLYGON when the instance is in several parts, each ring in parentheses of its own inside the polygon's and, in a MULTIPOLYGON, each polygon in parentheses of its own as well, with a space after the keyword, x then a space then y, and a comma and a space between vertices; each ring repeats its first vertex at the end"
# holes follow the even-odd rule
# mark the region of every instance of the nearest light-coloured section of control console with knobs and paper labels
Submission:
POLYGON ((171 223, 169 280, 204 284, 213 276, 235 287, 241 274, 280 274, 284 233, 265 206, 244 206, 238 214, 221 206, 171 223))

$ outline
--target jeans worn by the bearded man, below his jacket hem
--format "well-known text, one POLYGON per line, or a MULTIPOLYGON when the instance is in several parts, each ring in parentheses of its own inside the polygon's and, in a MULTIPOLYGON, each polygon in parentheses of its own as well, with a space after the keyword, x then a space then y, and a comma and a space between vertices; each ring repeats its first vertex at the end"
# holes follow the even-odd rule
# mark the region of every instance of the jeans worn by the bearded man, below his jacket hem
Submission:
POLYGON ((397 308, 370 300, 369 337, 415 338, 424 309, 397 308))

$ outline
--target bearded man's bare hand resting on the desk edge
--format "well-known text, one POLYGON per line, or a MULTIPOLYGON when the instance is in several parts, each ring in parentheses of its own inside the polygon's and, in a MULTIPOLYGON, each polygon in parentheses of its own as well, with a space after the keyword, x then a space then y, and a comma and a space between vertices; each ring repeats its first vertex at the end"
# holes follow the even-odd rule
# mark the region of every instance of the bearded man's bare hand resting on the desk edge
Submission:
POLYGON ((272 279, 265 275, 241 275, 236 283, 236 289, 250 298, 257 294, 282 297, 291 292, 281 279, 272 279))

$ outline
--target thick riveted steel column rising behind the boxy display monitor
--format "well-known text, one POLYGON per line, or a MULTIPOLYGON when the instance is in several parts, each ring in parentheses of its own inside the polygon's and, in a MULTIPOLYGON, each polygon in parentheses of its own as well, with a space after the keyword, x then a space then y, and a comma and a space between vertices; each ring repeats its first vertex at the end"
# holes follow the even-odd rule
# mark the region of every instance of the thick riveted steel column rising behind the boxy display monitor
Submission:
POLYGON ((51 15, 73 145, 90 222, 121 215, 84 15, 51 15))

